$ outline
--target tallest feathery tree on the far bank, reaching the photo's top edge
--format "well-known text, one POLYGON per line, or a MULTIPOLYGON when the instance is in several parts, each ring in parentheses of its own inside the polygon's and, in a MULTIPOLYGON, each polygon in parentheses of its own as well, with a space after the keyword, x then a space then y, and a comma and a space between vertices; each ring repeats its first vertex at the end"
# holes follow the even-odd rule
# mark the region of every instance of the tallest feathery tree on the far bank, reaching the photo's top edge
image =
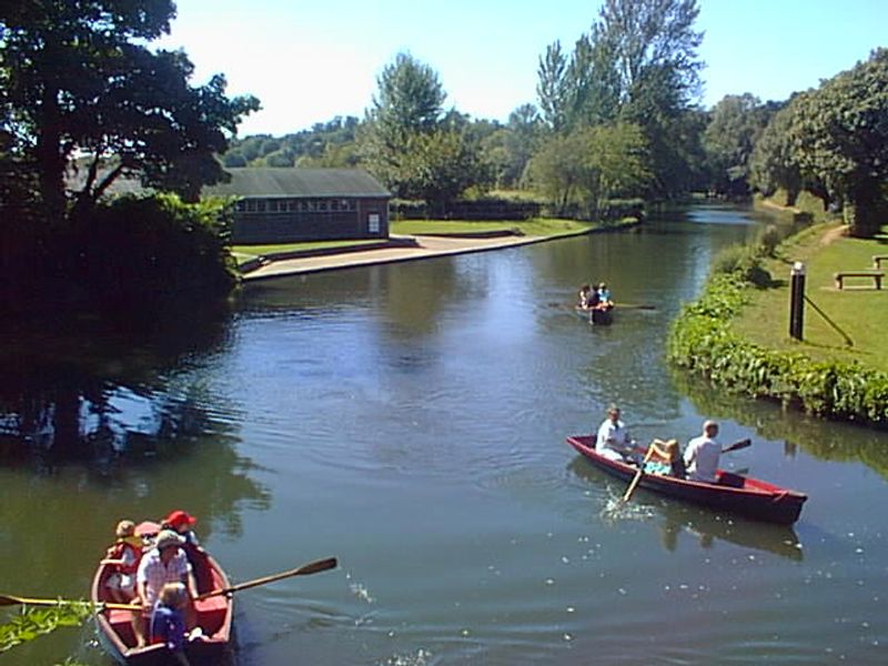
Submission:
POLYGON ((668 196, 700 172, 696 0, 606 0, 598 20, 568 56, 558 42, 541 59, 543 118, 554 131, 609 123, 644 131, 656 178, 668 196))

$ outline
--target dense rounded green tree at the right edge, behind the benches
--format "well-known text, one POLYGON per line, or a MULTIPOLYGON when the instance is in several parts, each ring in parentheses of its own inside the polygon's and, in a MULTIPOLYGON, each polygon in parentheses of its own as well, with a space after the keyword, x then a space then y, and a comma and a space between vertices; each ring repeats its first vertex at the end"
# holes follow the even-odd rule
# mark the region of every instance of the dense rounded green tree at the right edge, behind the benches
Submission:
POLYGON ((796 98, 789 138, 803 178, 842 204, 851 233, 877 233, 888 183, 888 49, 796 98))

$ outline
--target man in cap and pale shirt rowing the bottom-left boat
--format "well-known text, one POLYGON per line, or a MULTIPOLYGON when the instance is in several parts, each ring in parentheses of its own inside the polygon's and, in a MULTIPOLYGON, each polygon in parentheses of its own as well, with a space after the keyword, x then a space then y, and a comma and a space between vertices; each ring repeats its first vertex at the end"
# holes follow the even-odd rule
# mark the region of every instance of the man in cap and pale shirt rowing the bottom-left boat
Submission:
POLYGON ((145 629, 158 602, 158 596, 167 583, 182 583, 189 593, 185 604, 185 620, 190 627, 194 626, 195 614, 192 599, 198 596, 191 565, 182 549, 185 539, 172 529, 161 529, 151 548, 139 563, 135 573, 135 589, 138 601, 142 604, 140 616, 133 617, 133 630, 139 645, 145 644, 145 629))

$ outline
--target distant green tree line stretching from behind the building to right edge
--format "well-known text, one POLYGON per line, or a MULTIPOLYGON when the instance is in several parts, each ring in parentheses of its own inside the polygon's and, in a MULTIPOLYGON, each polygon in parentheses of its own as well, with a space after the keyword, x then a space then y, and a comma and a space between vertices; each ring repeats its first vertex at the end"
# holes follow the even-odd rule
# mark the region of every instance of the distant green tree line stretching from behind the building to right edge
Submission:
POLYGON ((397 198, 446 210, 492 190, 526 190, 558 215, 595 218, 615 198, 669 200, 801 190, 842 210, 858 235, 885 200, 885 49, 785 101, 700 103, 696 0, 607 0, 573 48, 538 59, 537 100, 505 123, 445 105, 437 72, 400 53, 363 119, 282 138, 248 137, 229 167, 363 167, 397 198))

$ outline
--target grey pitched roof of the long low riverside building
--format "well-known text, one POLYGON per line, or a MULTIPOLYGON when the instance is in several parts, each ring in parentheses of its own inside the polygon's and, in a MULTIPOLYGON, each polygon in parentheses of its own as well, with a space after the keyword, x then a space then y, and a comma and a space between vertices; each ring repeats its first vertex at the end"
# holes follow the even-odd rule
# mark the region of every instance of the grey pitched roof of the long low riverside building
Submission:
POLYGON ((391 196, 360 169, 231 168, 228 183, 203 189, 216 196, 391 196))

